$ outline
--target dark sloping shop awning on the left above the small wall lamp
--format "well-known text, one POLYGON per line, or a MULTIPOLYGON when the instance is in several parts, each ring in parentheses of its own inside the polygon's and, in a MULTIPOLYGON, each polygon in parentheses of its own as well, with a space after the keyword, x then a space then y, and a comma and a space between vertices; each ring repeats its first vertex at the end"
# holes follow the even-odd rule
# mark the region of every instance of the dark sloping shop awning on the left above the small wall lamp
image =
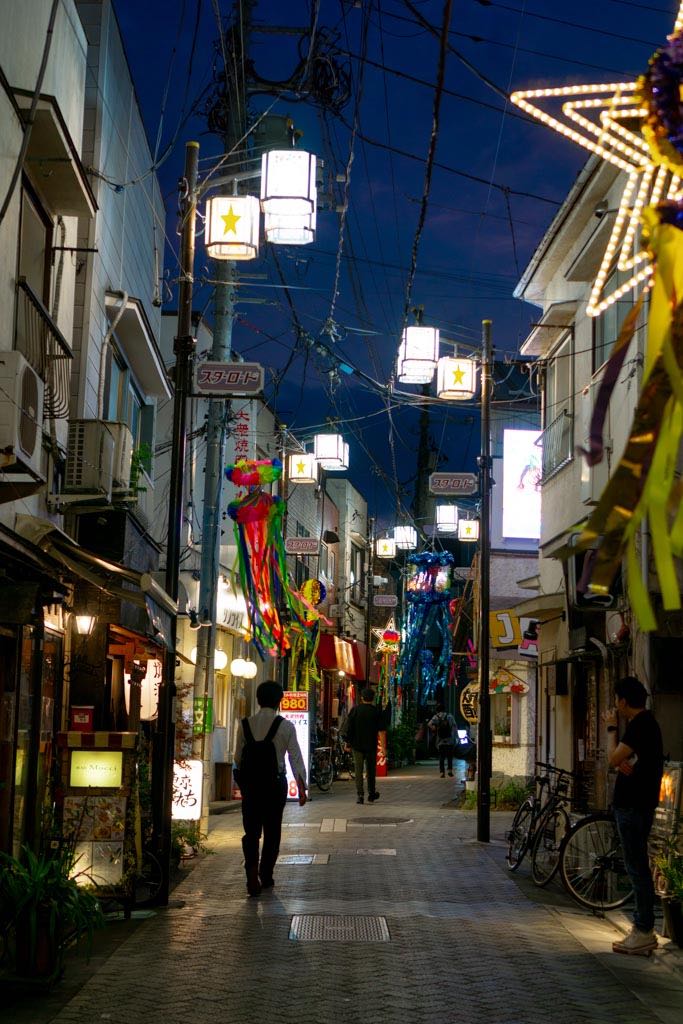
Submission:
POLYGON ((146 610, 155 636, 169 646, 170 617, 178 607, 148 572, 127 568, 82 548, 48 519, 17 515, 16 532, 60 562, 74 575, 87 580, 113 597, 130 601, 146 610))

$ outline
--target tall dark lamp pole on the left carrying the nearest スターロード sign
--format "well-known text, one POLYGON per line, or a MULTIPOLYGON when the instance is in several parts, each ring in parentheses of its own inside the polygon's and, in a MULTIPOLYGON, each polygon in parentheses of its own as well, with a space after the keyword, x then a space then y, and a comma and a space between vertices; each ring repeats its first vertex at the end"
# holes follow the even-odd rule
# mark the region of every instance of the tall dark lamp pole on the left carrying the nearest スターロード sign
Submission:
MULTIPOLYGON (((182 232, 180 241, 180 287, 178 326, 173 342, 175 353, 173 429, 171 434, 171 479, 168 501, 168 543, 166 547, 166 591, 178 600, 180 538, 182 535, 183 483, 185 475, 187 397, 190 392, 193 356, 193 285, 195 274, 195 224, 197 215, 197 173, 199 142, 185 143, 185 168, 180 200, 182 232)), ((159 742, 154 746, 152 773, 155 847, 162 870, 162 885, 157 896, 161 905, 168 903, 171 871, 171 805, 173 764, 175 760, 175 648, 177 618, 171 621, 169 650, 166 655, 164 684, 159 694, 159 742)))

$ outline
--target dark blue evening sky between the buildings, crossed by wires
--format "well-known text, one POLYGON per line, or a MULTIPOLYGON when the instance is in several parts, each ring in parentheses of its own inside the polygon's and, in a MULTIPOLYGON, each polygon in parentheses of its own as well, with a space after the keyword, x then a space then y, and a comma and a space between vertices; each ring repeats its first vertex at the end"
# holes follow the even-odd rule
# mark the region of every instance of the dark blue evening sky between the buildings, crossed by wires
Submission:
MULTIPOLYGON (((297 36, 261 29, 305 28, 311 4, 253 4, 249 55, 258 76, 282 80, 292 74, 299 60, 297 36)), ((198 0, 115 0, 115 7, 153 148, 170 81, 159 152, 175 137, 160 178, 169 197, 168 234, 176 246, 174 190, 183 143, 199 139, 204 170, 221 152, 198 114, 178 128, 183 96, 186 91, 191 105, 210 86, 213 69, 220 71, 216 9, 227 22, 240 3, 203 0, 191 70, 198 0)), ((514 286, 585 154, 525 121, 504 94, 515 88, 630 80, 665 41, 677 9, 677 0, 454 0, 453 49, 445 62, 434 167, 410 295, 412 305, 424 305, 425 323, 438 326, 452 341, 476 347, 481 319, 488 317, 497 356, 518 350, 537 311, 513 299, 514 286)), ((401 500, 410 504, 416 468, 415 408, 381 388, 393 368, 416 255, 443 12, 440 0, 321 0, 317 30, 329 42, 331 67, 349 75, 349 99, 333 112, 286 95, 272 112, 291 115, 304 131, 301 145, 325 160, 333 206, 342 200, 343 185, 335 177, 348 164, 355 120, 338 295, 333 300, 340 216, 322 210, 313 245, 280 247, 278 264, 263 250, 257 262, 243 265, 245 273, 266 276, 259 287, 245 286, 241 295, 266 301, 243 302, 234 333, 234 346, 246 357, 275 374, 288 368, 276 388, 270 374, 267 394, 297 433, 304 436, 328 413, 339 417, 351 444, 349 475, 371 506, 387 515, 395 503, 396 480, 405 486, 401 500), (436 35, 419 24, 420 17, 436 35), (358 59, 364 47, 365 66, 358 59), (296 287, 289 293, 260 287, 283 281, 296 287), (326 331, 331 313, 334 337, 326 331), (343 374, 331 386, 334 360, 302 344, 300 332, 297 340, 294 321, 309 341, 322 341, 377 386, 343 374)), ((274 98, 253 97, 250 108, 258 114, 274 98)), ((199 251, 198 256, 198 273, 210 275, 199 251)), ((173 279, 172 251, 167 269, 173 279)), ((211 286, 200 287, 196 305, 210 303, 210 297, 211 286)), ((478 433, 476 411, 435 410, 432 436, 449 460, 442 468, 472 469, 478 433)))

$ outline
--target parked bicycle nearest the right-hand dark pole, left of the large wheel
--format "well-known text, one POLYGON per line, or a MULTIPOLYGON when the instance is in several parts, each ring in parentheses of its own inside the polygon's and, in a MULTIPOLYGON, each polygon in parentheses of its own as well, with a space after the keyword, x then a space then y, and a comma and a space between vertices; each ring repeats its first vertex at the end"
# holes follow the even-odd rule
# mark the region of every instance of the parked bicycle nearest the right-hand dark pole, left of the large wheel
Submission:
POLYGON ((571 772, 544 761, 536 762, 533 790, 519 805, 508 833, 507 863, 511 871, 527 850, 536 849, 535 881, 547 885, 557 870, 561 840, 569 827, 566 810, 571 772))

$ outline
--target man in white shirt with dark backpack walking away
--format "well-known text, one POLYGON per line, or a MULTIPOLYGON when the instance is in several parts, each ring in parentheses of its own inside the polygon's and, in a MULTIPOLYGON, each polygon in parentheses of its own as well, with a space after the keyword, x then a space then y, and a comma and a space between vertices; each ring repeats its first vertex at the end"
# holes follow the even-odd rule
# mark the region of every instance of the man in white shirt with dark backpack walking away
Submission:
POLYGON ((242 849, 250 896, 260 896, 262 889, 274 885, 272 872, 287 803, 286 754, 299 787, 299 805, 306 803, 306 767, 294 725, 278 714, 282 698, 280 683, 261 683, 256 690, 260 710, 242 719, 234 745, 233 774, 242 793, 242 849))

